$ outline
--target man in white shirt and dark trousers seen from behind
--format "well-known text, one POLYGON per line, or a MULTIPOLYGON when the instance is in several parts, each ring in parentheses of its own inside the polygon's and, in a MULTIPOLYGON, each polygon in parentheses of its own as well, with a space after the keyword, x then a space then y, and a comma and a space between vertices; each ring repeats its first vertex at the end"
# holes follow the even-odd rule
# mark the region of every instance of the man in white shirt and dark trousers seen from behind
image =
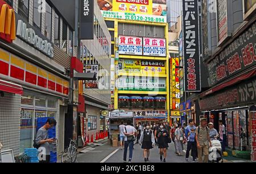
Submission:
POLYGON ((135 127, 131 126, 131 121, 127 121, 127 126, 125 129, 125 150, 123 151, 123 162, 126 163, 127 158, 127 150, 129 147, 129 163, 131 163, 131 159, 133 158, 133 146, 135 141, 135 127))

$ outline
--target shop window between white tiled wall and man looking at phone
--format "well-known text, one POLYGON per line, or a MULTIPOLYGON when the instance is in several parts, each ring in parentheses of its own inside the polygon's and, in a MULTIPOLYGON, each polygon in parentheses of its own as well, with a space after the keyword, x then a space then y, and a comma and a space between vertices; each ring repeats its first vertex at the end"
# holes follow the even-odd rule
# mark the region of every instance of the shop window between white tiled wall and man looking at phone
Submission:
POLYGON ((34 110, 21 109, 20 111, 20 143, 19 150, 24 152, 25 148, 32 147, 34 110))

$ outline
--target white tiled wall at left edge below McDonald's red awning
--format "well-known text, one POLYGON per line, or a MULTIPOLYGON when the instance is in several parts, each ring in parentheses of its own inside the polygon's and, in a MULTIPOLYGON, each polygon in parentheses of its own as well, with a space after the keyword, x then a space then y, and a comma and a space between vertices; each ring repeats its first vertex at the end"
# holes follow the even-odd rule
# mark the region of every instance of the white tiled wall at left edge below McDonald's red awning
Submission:
POLYGON ((20 95, 4 93, 0 97, 0 142, 2 150, 19 154, 20 95))

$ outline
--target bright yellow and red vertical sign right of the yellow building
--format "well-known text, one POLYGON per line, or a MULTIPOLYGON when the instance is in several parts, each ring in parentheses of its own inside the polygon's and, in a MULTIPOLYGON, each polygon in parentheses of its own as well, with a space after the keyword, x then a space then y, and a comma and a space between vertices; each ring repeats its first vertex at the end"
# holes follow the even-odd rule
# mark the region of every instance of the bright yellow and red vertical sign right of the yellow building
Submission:
POLYGON ((179 82, 179 58, 171 58, 171 108, 172 110, 180 109, 180 82, 179 82))

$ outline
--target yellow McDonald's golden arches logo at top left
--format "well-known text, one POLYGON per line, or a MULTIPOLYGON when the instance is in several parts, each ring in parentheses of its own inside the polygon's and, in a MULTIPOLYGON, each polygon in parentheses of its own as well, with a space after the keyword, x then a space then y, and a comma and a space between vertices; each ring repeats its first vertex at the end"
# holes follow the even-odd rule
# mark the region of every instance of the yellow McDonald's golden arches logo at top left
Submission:
POLYGON ((3 4, 0 14, 0 33, 10 35, 11 40, 16 39, 16 23, 14 9, 3 4))

